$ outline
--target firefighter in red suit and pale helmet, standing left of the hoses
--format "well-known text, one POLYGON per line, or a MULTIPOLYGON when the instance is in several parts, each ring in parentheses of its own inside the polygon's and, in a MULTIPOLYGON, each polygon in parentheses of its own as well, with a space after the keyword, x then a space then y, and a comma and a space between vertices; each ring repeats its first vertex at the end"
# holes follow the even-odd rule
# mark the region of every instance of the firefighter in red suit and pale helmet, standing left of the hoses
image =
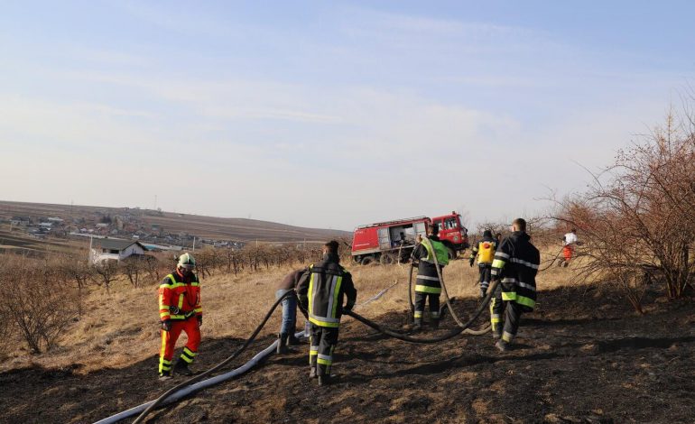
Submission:
POLYGON ((193 273, 195 259, 189 253, 179 257, 176 270, 164 277, 159 286, 159 317, 162 323, 162 347, 159 357, 160 380, 171 379, 172 371, 191 375, 189 364, 198 355, 203 309, 200 306, 200 283, 193 273), (176 340, 181 331, 188 342, 175 366, 171 366, 176 340))

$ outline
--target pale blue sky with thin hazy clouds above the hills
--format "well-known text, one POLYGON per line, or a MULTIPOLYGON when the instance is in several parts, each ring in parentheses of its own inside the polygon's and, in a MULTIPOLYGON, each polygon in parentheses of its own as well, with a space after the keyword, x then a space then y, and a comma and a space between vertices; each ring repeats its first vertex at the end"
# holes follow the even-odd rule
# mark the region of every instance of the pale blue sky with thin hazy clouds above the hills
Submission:
POLYGON ((691 2, 9 2, 5 200, 296 226, 542 211, 663 121, 691 2), (580 166, 581 165, 581 166, 580 166), (31 176, 18 178, 18 176, 31 176))

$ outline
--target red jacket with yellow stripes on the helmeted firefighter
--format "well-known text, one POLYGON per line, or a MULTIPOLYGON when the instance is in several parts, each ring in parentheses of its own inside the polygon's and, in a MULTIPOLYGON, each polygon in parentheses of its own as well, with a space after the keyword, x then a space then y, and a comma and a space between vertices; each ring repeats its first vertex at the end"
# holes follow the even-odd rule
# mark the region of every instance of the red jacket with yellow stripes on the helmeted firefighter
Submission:
POLYGON ((164 277, 159 286, 160 320, 188 319, 202 315, 198 276, 192 274, 190 279, 184 280, 179 272, 174 271, 164 277))

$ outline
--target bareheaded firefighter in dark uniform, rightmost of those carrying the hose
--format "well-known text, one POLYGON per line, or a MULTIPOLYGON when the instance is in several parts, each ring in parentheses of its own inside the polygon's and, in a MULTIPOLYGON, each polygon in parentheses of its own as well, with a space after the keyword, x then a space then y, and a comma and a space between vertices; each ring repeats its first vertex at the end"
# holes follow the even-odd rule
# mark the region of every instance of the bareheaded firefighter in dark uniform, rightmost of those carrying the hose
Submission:
POLYGON ((496 347, 502 352, 509 349, 522 313, 531 312, 536 304, 536 273, 541 254, 526 234, 526 221, 516 218, 509 235, 497 248, 492 263, 492 278, 500 281, 490 303, 490 322, 496 347), (504 317, 504 328, 502 315, 504 317))

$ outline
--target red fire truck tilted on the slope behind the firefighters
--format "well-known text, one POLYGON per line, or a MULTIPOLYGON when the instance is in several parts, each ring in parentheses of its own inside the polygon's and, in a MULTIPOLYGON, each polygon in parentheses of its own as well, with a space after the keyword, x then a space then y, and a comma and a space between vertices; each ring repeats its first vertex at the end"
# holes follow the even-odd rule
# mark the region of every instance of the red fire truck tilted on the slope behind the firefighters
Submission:
POLYGON ((405 262, 418 235, 427 235, 432 224, 440 227, 440 241, 449 249, 450 258, 468 248, 468 229, 461 225, 461 216, 454 211, 441 217, 412 217, 358 226, 352 235, 352 259, 362 264, 405 262))

